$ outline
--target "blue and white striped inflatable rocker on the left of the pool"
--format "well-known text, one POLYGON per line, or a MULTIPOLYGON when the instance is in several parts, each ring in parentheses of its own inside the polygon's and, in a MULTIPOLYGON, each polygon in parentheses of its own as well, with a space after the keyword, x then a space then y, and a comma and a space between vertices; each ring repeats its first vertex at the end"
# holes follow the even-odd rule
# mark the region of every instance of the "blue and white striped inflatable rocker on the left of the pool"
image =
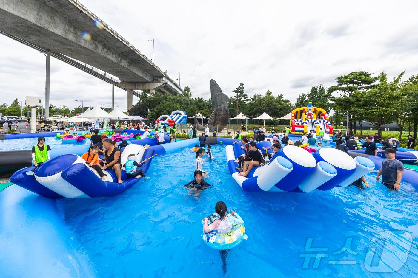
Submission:
MULTIPOLYGON (((153 149, 145 150, 142 145, 129 144, 121 154, 121 163, 125 164, 129 154, 136 154, 139 163, 154 154, 153 149)), ((145 173, 151 159, 147 160, 141 170, 145 173)), ((104 181, 92 167, 76 154, 61 154, 53 157, 36 169, 27 167, 20 169, 10 177, 10 182, 43 197, 86 198, 111 197, 119 195, 132 187, 139 179, 126 177, 122 167, 122 183, 117 183, 115 171, 105 170, 104 181)))

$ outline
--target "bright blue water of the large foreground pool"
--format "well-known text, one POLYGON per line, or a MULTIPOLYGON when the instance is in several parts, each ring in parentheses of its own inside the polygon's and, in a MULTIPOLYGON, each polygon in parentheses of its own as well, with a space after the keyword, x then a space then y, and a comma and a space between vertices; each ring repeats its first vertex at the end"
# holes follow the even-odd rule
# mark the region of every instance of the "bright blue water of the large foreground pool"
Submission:
MULTIPOLYGON (((203 169, 213 187, 199 197, 183 187, 195 169, 195 153, 186 148, 155 157, 146 173, 150 179, 121 195, 57 200, 67 232, 74 235, 73 248, 87 257, 99 277, 417 276, 418 193, 410 185, 388 190, 376 182, 373 171, 364 190, 351 186, 310 194, 245 192, 229 174, 225 146, 214 145, 212 153, 215 159, 206 160, 203 169), (227 253, 226 268, 219 251, 200 235, 201 220, 214 212, 219 200, 240 214, 248 235, 227 253), (382 230, 407 231, 414 238, 398 273, 368 272, 364 266, 369 247, 382 252, 384 240, 370 242, 382 230), (311 248, 326 250, 305 250, 309 238, 311 248), (357 253, 334 255, 347 239, 357 253), (316 269, 314 259, 303 269, 303 254, 328 257, 316 269)), ((390 249, 389 260, 399 255, 390 249)), ((379 255, 375 257, 377 265, 379 255)))

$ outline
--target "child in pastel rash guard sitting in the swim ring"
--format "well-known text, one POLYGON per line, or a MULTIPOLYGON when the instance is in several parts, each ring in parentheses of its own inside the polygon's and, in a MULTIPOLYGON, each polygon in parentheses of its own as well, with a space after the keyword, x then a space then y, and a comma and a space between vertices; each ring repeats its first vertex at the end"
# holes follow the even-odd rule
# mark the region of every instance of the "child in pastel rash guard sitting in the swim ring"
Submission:
POLYGON ((244 220, 237 214, 237 212, 227 213, 227 205, 224 202, 219 201, 215 205, 215 212, 219 215, 219 218, 208 225, 208 218, 203 219, 203 230, 205 233, 209 233, 212 230, 216 230, 219 234, 228 233, 232 230, 234 225, 243 225, 244 220))

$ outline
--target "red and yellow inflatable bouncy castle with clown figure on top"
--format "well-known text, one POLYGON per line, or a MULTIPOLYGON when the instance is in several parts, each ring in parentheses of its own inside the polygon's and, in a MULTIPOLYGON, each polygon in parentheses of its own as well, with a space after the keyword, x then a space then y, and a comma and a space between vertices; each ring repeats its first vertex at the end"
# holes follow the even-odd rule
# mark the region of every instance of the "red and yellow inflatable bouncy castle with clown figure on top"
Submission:
POLYGON ((324 109, 312 106, 312 102, 309 102, 306 107, 296 108, 292 111, 290 126, 291 134, 303 134, 303 132, 309 132, 312 129, 316 135, 319 135, 321 127, 325 134, 332 134, 328 114, 324 109))

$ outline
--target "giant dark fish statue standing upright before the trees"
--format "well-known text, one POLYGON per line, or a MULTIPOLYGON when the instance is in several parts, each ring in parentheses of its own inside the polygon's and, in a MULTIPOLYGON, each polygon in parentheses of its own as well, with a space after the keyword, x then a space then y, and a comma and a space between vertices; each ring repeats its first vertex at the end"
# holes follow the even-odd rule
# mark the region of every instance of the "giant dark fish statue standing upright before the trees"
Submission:
MULTIPOLYGON (((222 93, 218 83, 213 79, 210 81, 210 96, 212 99, 213 112, 208 120, 209 130, 212 130, 213 128, 214 130, 222 131, 229 123, 228 102, 231 101, 231 99, 229 99, 229 96, 222 93)), ((196 124, 197 130, 205 130, 205 127, 197 121, 196 115, 194 115, 194 124, 196 124)))

